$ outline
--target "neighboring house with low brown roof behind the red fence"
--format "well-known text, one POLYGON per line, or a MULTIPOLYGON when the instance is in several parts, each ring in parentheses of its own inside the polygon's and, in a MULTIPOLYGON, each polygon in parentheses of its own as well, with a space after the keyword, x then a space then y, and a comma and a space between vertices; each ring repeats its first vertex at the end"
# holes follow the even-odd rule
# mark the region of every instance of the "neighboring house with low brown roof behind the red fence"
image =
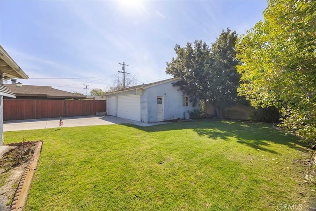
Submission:
MULTIPOLYGON (((12 79, 12 84, 4 84, 5 87, 12 90, 19 100, 65 100, 65 99, 85 99, 86 96, 74 94, 67 91, 58 90, 51 86, 22 85, 12 79)), ((4 99, 9 99, 4 97, 4 99)))

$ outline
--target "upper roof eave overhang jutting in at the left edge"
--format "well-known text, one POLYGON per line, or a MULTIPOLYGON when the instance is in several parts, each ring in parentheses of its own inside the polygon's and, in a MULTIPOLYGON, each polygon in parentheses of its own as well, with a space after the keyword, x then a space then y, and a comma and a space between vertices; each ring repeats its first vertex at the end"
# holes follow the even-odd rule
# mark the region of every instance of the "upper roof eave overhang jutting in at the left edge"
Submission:
POLYGON ((11 78, 28 79, 28 75, 17 65, 11 56, 0 45, 0 71, 5 80, 11 78))

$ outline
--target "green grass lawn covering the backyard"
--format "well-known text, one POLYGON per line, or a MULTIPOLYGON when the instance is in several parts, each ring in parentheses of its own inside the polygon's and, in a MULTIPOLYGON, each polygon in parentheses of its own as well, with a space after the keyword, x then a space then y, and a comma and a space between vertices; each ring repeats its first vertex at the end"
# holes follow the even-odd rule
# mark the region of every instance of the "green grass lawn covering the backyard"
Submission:
POLYGON ((14 131, 4 138, 44 141, 25 210, 314 206, 309 167, 295 161, 309 152, 270 124, 196 120, 14 131))

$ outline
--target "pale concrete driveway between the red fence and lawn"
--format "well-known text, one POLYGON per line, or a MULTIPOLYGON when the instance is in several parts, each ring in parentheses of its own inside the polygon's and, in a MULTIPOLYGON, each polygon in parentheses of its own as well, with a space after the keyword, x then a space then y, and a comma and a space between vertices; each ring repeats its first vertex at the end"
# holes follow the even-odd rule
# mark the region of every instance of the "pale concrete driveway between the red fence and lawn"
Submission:
MULTIPOLYGON (((142 123, 133 120, 127 120, 113 116, 80 116, 80 117, 63 117, 64 125, 62 127, 76 127, 76 126, 93 126, 93 125, 110 125, 110 124, 133 124, 138 126, 153 126, 165 124, 167 122, 158 123, 142 123)), ((17 120, 5 121, 4 132, 17 131, 17 130, 30 130, 30 129, 48 129, 58 128, 59 118, 49 119, 35 119, 35 120, 17 120)))

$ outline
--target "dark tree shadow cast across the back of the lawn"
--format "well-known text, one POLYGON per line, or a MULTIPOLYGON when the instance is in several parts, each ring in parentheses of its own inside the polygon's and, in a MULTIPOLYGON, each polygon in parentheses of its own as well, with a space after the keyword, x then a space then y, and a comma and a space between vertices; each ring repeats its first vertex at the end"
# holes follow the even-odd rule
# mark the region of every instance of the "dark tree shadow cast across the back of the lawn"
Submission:
POLYGON ((141 127, 131 124, 123 124, 145 132, 159 132, 190 129, 199 136, 210 139, 230 141, 237 139, 240 144, 260 149, 266 152, 278 154, 275 150, 269 149, 272 143, 285 145, 288 148, 307 152, 307 144, 292 135, 286 135, 281 131, 272 129, 270 124, 253 123, 228 120, 194 120, 189 122, 175 122, 164 125, 141 127))

